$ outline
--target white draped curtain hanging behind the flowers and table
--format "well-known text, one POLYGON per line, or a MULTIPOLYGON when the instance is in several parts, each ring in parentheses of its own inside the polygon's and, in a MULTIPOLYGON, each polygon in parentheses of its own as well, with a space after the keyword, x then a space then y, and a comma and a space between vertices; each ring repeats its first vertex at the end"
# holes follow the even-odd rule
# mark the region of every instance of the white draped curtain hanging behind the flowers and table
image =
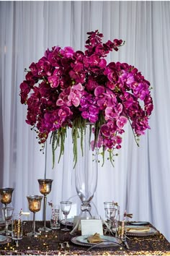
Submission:
MULTIPOLYGON (((126 127, 115 168, 107 161, 99 167, 93 202, 104 216, 103 202, 115 200, 122 211, 133 213, 133 221, 150 221, 170 240, 169 1, 1 1, 0 25, 0 186, 14 187, 15 210, 28 210, 27 195, 40 195, 37 179, 45 176, 45 155, 25 123, 27 109, 19 98, 24 68, 52 46, 84 50, 86 32, 98 29, 105 41, 126 41, 108 61, 138 67, 153 86, 154 111, 140 147, 126 127)), ((65 154, 59 164, 56 156, 54 170, 47 146, 46 177, 53 179, 48 201, 79 201, 73 197, 71 144, 68 135, 65 154)), ((49 218, 49 207, 47 211, 49 218)), ((42 218, 42 210, 36 218, 42 218)))

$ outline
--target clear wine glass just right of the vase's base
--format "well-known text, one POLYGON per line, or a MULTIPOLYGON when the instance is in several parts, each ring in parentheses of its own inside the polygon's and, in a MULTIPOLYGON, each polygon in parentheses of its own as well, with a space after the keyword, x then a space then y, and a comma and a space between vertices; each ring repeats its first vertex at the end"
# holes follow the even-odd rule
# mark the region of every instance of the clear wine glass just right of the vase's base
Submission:
POLYGON ((109 225, 109 232, 110 230, 116 228, 116 212, 117 208, 115 207, 114 202, 104 202, 104 210, 105 210, 105 216, 107 219, 107 223, 109 225))

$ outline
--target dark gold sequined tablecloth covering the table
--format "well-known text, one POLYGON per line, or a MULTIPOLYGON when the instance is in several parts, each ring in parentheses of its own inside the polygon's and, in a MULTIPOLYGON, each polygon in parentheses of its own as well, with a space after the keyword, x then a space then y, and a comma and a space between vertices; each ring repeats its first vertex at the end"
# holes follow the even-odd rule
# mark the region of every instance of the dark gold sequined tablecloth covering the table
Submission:
MULTIPOLYGON (((43 221, 36 221, 36 229, 43 226, 43 221)), ((46 222, 50 226, 50 221, 46 222)), ((149 226, 152 226, 149 224, 149 226)), ((170 255, 170 243, 159 231, 153 236, 135 237, 129 236, 130 249, 124 247, 105 247, 86 250, 71 242, 71 234, 59 230, 42 233, 41 236, 28 237, 27 232, 32 231, 32 221, 25 221, 24 236, 19 241, 19 247, 15 242, 0 245, 0 255, 170 255), (68 242, 69 247, 66 247, 68 242), (61 249, 63 244, 63 249, 61 249)))

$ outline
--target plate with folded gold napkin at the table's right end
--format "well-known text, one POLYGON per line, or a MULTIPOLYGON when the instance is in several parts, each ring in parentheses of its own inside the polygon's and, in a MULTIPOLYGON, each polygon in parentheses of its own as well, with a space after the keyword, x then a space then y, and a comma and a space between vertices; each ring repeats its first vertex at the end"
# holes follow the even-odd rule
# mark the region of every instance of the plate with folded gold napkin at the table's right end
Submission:
POLYGON ((148 226, 133 226, 133 225, 128 225, 126 226, 127 229, 133 229, 128 231, 127 230, 127 236, 152 236, 153 234, 156 234, 158 231, 156 229, 153 229, 150 227, 148 231, 144 231, 143 229, 147 229, 148 226), (136 229, 136 230, 134 230, 136 229))

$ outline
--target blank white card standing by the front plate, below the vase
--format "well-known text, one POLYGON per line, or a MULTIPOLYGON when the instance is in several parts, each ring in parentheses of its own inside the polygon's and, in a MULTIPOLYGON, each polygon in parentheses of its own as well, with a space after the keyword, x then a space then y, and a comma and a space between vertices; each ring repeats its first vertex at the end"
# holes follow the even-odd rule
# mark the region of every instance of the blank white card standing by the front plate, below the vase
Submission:
POLYGON ((103 235, 102 220, 81 220, 81 235, 93 235, 98 233, 103 235))

